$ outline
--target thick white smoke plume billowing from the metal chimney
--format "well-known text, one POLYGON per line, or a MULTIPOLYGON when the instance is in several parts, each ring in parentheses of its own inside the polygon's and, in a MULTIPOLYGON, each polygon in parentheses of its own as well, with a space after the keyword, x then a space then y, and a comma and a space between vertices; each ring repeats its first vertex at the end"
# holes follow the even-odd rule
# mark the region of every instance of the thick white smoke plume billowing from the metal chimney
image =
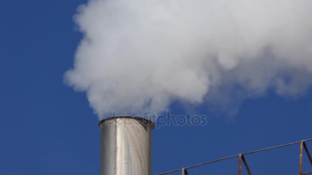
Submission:
POLYGON ((65 80, 100 118, 312 83, 310 0, 90 0, 74 19, 84 37, 65 80))

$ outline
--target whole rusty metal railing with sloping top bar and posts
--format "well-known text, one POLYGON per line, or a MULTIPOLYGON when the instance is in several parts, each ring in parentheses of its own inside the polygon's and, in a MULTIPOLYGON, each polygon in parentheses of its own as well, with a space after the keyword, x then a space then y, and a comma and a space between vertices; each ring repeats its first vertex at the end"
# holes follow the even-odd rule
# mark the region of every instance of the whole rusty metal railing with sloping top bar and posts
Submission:
POLYGON ((298 141, 298 142, 294 142, 294 143, 287 143, 287 144, 284 144, 284 145, 279 145, 279 146, 274 146, 274 147, 269 147, 269 148, 264 148, 264 149, 259 149, 259 150, 254 150, 254 151, 250 151, 250 152, 245 152, 243 154, 239 154, 239 155, 234 155, 234 156, 229 156, 229 157, 226 157, 226 158, 221 158, 221 159, 217 159, 217 160, 213 160, 213 161, 209 161, 209 162, 204 162, 204 163, 201 163, 201 164, 197 164, 197 165, 192 165, 192 166, 189 166, 189 167, 185 167, 185 168, 181 168, 181 169, 176 169, 176 170, 172 170, 172 171, 168 171, 168 172, 163 172, 163 173, 159 173, 159 174, 156 174, 156 175, 163 175, 163 174, 169 174, 169 173, 172 173, 172 172, 178 172, 178 171, 182 171, 182 175, 188 175, 188 172, 187 172, 187 169, 191 169, 191 168, 195 168, 195 167, 198 167, 198 166, 202 166, 202 165, 206 165, 206 164, 210 164, 210 163, 214 163, 214 162, 219 162, 219 161, 223 161, 223 160, 226 160, 226 159, 231 159, 231 158, 236 158, 238 157, 238 174, 239 175, 242 175, 242 161, 243 161, 243 164, 248 172, 249 175, 251 175, 251 171, 248 167, 248 164, 246 162, 246 159, 244 157, 244 155, 249 155, 249 154, 253 154, 255 152, 261 152, 261 151, 266 151, 266 150, 270 150, 270 149, 276 149, 276 148, 280 148, 280 147, 284 147, 284 146, 289 146, 289 145, 295 145, 295 144, 300 144, 300 154, 299 154, 299 175, 305 175, 305 174, 312 174, 312 171, 310 172, 302 172, 302 156, 303 156, 303 148, 305 150, 305 153, 306 155, 308 156, 308 159, 310 161, 310 164, 312 166, 312 157, 309 153, 309 150, 305 144, 305 142, 308 142, 308 141, 312 141, 312 139, 307 139, 307 140, 302 140, 302 141, 298 141))

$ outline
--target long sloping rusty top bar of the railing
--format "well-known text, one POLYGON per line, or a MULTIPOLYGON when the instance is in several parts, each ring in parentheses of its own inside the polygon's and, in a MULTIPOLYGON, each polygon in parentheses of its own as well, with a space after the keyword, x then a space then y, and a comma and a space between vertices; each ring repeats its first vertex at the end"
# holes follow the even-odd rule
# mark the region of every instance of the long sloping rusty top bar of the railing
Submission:
MULTIPOLYGON (((308 141, 311 141, 311 140, 312 140, 312 139, 307 139, 307 140, 303 140, 303 142, 308 142, 308 141)), ((284 144, 284 145, 279 145, 279 146, 274 146, 274 147, 269 147, 269 148, 265 148, 265 149, 259 149, 259 150, 255 150, 255 151, 250 151, 250 152, 246 152, 246 153, 244 153, 244 154, 242 154, 242 155, 249 155, 249 154, 252 154, 252 153, 255 153, 255 152, 261 152, 261 151, 265 151, 265 150, 269 150, 269 149, 275 149, 275 148, 279 148, 279 147, 294 145, 294 144, 298 144, 298 143, 300 143, 300 142, 301 142, 301 141, 294 142, 294 143, 288 143, 288 144, 284 144)), ((229 156, 229 157, 226 157, 226 158, 221 158, 221 159, 217 159, 217 160, 213 160, 213 161, 209 161, 209 162, 205 162, 205 163, 201 163, 201 164, 189 166, 189 167, 186 167, 185 169, 190 169, 190 168, 194 168, 194 167, 198 167, 198 166, 202 166, 202 165, 206 165, 206 164, 210 164, 210 163, 214 163, 214 162, 219 162, 219 161, 222 161, 222 160, 226 160, 226 159, 230 159, 230 158, 235 158, 235 157, 239 157, 239 155, 229 156)), ((163 173, 159 173, 159 174, 156 174, 156 175, 169 174, 169 173, 172 173, 172 172, 181 171, 182 169, 183 169, 183 168, 181 168, 181 169, 175 169, 175 170, 172 170, 172 171, 163 172, 163 173)))

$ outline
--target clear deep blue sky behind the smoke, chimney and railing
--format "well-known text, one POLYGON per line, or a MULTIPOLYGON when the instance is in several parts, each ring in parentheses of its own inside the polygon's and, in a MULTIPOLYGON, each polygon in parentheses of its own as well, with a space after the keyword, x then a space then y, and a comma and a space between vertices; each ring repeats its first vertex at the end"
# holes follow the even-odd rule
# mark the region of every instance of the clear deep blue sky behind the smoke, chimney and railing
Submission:
MULTIPOLYGON (((0 6, 0 174, 99 174, 97 116, 85 93, 63 83, 82 35, 72 16, 86 1, 3 1, 0 6)), ((172 114, 185 114, 180 103, 172 114)), ((153 174, 255 149, 312 138, 312 91, 268 93, 236 116, 198 107, 205 126, 152 132, 153 174)), ((312 151, 312 142, 307 143, 312 151)), ((254 174, 298 174, 299 145, 246 156, 254 174)), ((235 174, 237 159, 189 170, 235 174)), ((304 170, 312 171, 304 155, 304 170)), ((180 174, 172 173, 172 174, 180 174)))

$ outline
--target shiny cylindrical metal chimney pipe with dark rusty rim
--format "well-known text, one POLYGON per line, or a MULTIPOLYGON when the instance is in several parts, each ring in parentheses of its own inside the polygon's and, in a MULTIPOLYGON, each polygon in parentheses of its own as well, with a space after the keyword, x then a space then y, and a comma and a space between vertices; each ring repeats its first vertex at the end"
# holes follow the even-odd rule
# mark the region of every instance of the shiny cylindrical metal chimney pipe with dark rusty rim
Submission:
POLYGON ((119 116, 101 120, 99 126, 100 175, 151 175, 152 121, 119 116))

